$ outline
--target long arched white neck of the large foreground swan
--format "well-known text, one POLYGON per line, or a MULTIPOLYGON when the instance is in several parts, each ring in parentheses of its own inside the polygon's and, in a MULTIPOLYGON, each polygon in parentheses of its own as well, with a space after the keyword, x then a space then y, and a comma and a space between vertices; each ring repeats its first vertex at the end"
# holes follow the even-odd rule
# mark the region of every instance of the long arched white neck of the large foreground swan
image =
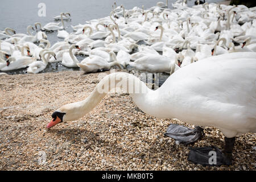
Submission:
POLYGON ((121 72, 112 73, 104 77, 89 97, 80 102, 64 105, 60 107, 59 111, 70 113, 65 116, 66 121, 75 121, 96 107, 110 90, 114 89, 114 92, 117 92, 118 90, 116 88, 121 88, 129 93, 135 104, 144 113, 160 117, 155 107, 159 96, 156 93, 157 90, 150 90, 139 78, 129 73, 121 72))

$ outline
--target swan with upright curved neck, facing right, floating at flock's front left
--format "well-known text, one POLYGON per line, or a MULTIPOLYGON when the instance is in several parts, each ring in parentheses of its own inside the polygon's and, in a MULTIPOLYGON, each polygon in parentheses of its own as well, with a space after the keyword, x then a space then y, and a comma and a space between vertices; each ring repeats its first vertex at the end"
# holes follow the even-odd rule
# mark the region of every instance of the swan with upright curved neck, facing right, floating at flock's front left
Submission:
POLYGON ((61 61, 61 64, 63 64, 65 67, 76 68, 77 63, 79 63, 79 61, 77 60, 76 56, 73 55, 72 49, 80 49, 80 48, 77 45, 72 45, 69 48, 69 52, 63 53, 63 60, 61 61))

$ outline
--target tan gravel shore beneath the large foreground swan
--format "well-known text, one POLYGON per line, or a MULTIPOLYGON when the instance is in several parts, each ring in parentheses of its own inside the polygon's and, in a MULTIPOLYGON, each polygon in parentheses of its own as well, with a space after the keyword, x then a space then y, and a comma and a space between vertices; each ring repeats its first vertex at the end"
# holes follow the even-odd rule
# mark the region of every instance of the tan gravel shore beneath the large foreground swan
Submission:
MULTIPOLYGON (((109 72, 105 72, 109 73, 109 72)), ((164 137, 177 119, 150 117, 123 93, 110 93, 78 121, 47 130, 58 107, 83 100, 100 73, 63 71, 0 76, 1 170, 255 170, 256 134, 237 137, 233 166, 203 167, 188 162, 188 147, 224 146, 212 127, 193 145, 164 137), (46 162, 44 155, 46 154, 46 162)))

